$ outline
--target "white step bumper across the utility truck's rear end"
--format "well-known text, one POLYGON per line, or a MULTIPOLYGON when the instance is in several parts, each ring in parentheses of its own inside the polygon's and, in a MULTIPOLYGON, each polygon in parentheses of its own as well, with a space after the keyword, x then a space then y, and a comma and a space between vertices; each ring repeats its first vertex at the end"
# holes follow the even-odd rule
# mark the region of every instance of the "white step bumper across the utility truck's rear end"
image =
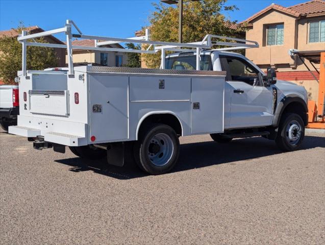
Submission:
POLYGON ((80 145, 87 144, 85 143, 86 142, 85 137, 56 133, 56 132, 49 132, 49 131, 44 132, 43 130, 21 127, 21 126, 10 126, 8 132, 10 134, 20 135, 28 138, 43 136, 44 141, 63 144, 67 146, 80 146, 80 145))

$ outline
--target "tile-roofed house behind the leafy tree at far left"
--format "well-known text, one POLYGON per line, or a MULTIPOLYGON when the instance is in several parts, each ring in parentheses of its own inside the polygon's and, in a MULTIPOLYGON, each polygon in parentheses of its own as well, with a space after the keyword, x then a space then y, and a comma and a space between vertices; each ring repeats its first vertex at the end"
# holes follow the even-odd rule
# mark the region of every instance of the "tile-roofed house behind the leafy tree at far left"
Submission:
MULTIPOLYGON (((27 27, 26 31, 28 31, 30 34, 44 32, 44 30, 38 26, 27 27)), ((0 31, 0 38, 4 37, 4 36, 17 38, 18 32, 15 29, 7 30, 7 31, 0 31)), ((60 41, 59 39, 57 39, 56 37, 54 37, 52 35, 45 36, 44 39, 48 43, 65 44, 64 42, 60 41)), ((65 50, 63 48, 55 48, 55 53, 56 53, 56 56, 58 57, 58 66, 65 66, 65 50)))

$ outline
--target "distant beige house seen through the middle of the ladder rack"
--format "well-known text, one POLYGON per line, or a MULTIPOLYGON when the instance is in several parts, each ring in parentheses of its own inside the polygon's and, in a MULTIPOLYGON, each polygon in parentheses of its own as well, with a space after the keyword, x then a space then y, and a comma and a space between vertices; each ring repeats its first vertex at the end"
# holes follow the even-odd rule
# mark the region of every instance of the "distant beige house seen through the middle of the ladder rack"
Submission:
MULTIPOLYGON (((95 40, 82 39, 72 41, 72 45, 76 46, 95 46, 95 40)), ((104 45, 102 47, 123 48, 120 44, 104 45)), ((123 66, 128 63, 128 55, 126 52, 113 51, 94 51, 94 50, 73 50, 73 63, 95 63, 107 66, 123 66)), ((67 56, 66 56, 67 62, 67 56)))

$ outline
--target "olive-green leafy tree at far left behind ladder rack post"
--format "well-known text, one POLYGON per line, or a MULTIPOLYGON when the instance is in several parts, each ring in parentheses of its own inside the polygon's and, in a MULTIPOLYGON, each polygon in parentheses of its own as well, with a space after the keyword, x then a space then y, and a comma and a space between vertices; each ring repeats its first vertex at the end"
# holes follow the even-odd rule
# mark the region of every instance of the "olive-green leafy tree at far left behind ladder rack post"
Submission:
MULTIPOLYGON (((23 27, 16 30, 21 33, 23 27)), ((33 40, 29 40, 33 41, 33 40)), ((38 42, 45 42, 43 38, 38 38, 38 42)), ((1 37, 0 38, 0 78, 4 83, 13 83, 17 77, 17 71, 21 70, 22 45, 17 38, 1 37)), ((42 70, 49 67, 55 67, 58 64, 58 58, 54 48, 48 47, 27 47, 27 69, 42 70)))

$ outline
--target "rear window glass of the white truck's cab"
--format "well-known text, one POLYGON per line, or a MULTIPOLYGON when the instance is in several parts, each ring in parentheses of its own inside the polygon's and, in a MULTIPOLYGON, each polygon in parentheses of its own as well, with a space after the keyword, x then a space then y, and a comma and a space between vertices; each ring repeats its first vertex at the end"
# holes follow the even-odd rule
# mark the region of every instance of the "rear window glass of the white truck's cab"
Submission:
MULTIPOLYGON (((165 68, 175 70, 196 70, 196 55, 166 58, 165 68)), ((200 70, 213 70, 210 55, 200 55, 200 70)))

